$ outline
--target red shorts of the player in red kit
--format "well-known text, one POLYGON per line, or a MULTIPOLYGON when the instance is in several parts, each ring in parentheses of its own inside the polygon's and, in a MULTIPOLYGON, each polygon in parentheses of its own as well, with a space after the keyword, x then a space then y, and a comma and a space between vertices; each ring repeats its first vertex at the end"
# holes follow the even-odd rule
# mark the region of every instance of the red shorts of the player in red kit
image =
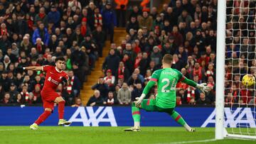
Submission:
POLYGON ((45 92, 41 91, 42 101, 43 101, 43 109, 51 109, 53 111, 54 108, 54 101, 55 99, 60 96, 57 92, 45 92))

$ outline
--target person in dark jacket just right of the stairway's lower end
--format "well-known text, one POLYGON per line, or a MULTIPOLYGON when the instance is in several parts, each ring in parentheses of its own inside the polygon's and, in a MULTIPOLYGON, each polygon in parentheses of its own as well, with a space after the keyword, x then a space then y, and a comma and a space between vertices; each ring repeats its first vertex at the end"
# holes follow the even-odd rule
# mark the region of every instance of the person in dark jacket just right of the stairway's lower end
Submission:
POLYGON ((92 89, 93 90, 95 90, 95 89, 99 90, 103 99, 106 99, 107 93, 109 92, 109 87, 107 86, 107 84, 105 84, 104 77, 100 77, 98 79, 97 84, 92 86, 92 89))

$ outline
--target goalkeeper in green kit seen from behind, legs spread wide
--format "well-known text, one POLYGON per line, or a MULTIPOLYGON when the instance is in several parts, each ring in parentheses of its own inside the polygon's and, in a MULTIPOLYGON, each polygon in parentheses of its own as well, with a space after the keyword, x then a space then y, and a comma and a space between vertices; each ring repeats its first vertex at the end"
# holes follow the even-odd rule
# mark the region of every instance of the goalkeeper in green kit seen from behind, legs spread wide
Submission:
POLYGON ((159 111, 168 113, 177 123, 186 128, 186 131, 194 132, 195 129, 188 126, 186 121, 174 111, 176 106, 176 84, 181 81, 192 87, 196 87, 201 92, 208 92, 209 87, 206 84, 196 84, 190 79, 184 77, 181 72, 171 68, 172 56, 164 55, 162 60, 163 69, 156 70, 149 80, 148 84, 142 92, 142 96, 137 97, 137 101, 132 103, 132 118, 134 119, 134 127, 128 128, 124 131, 140 131, 140 112, 139 109, 146 111, 159 111), (156 99, 144 99, 149 93, 151 87, 157 84, 156 99))

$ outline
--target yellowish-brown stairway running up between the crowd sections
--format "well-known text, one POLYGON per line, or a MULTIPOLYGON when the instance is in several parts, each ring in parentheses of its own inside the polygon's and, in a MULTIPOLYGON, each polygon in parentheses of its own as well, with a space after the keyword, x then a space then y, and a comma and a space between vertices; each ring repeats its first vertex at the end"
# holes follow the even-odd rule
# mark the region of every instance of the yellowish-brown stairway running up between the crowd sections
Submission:
MULTIPOLYGON (((126 34, 125 28, 114 28, 114 43, 116 43, 117 46, 121 45, 121 42, 124 40, 126 34)), ((110 40, 106 40, 105 47, 103 48, 103 57, 99 57, 99 60, 97 60, 95 64, 95 70, 87 76, 87 82, 83 83, 83 89, 80 92, 80 98, 82 99, 83 106, 87 104, 90 96, 92 96, 94 93, 91 87, 97 83, 99 77, 104 76, 102 72, 102 64, 105 57, 107 57, 109 50, 110 40)))

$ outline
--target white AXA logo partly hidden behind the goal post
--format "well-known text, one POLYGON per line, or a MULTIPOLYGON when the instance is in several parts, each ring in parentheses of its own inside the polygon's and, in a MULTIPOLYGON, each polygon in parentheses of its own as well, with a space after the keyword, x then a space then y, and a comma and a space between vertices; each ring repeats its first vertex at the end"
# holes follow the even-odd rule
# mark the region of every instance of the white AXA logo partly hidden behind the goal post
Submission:
MULTIPOLYGON (((210 116, 206 119, 201 127, 206 127, 209 124, 215 124, 215 113, 214 110, 210 116)), ((255 113, 255 112, 253 112, 255 113)), ((256 128, 255 118, 252 114, 252 109, 250 108, 237 108, 237 109, 224 109, 225 114, 225 121, 224 126, 225 128, 236 128, 236 127, 250 127, 256 128)))

